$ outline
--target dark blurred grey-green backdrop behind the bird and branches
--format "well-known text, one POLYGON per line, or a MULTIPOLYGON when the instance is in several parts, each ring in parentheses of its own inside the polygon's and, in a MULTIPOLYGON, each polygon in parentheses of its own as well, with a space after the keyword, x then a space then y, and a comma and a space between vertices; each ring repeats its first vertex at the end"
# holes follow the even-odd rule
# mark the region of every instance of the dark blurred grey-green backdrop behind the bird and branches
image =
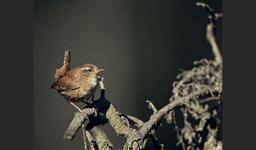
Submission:
MULTIPOLYGON (((222 1, 203 2, 222 12, 222 1)), ((146 122, 152 114, 146 100, 157 109, 168 104, 180 68, 214 59, 205 39, 207 14, 195 1, 34 1, 34 149, 84 149, 81 130, 73 141, 63 140, 77 110, 50 90, 65 50, 71 51, 71 69, 84 63, 106 69, 99 74, 106 98, 146 122)), ((222 50, 222 19, 216 25, 222 50)), ((114 149, 122 148, 125 138, 109 124, 103 129, 114 149)), ((165 120, 156 135, 165 149, 181 149, 165 120)))

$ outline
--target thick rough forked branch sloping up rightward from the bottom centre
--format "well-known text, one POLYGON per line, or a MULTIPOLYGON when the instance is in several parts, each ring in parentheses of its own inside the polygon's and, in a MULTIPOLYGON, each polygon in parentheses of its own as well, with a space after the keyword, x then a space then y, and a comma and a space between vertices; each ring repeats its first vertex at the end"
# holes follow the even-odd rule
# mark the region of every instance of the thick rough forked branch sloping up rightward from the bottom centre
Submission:
MULTIPOLYGON (((198 97, 199 95, 204 94, 208 90, 209 90, 208 88, 204 88, 194 93, 191 93, 186 97, 180 97, 178 99, 175 99, 168 105, 164 106, 164 108, 162 108, 161 110, 155 112, 152 115, 151 119, 146 123, 143 123, 142 121, 140 121, 139 119, 136 119, 135 117, 129 116, 129 119, 134 121, 137 124, 137 126, 141 128, 140 131, 137 131, 136 129, 127 126, 127 124, 123 122, 123 120, 121 119, 120 114, 114 109, 114 106, 112 104, 110 104, 109 109, 107 109, 106 119, 109 120, 111 126, 114 128, 114 130, 118 135, 127 138, 127 142, 124 145, 124 149, 129 149, 130 147, 132 147, 133 149, 144 148, 147 142, 147 138, 146 138, 147 134, 153 129, 153 127, 155 127, 157 122, 159 122, 165 114, 167 114, 170 110, 174 109, 176 106, 183 105, 186 102, 188 102, 190 99, 193 99, 194 97, 198 97)), ((102 89, 102 91, 104 92, 105 90, 102 89)), ((95 101, 94 105, 98 108, 103 107, 103 106, 99 106, 102 104, 103 100, 107 101, 105 99, 100 99, 95 101)), ((91 111, 91 113, 88 113, 89 118, 91 116, 94 116, 95 111, 93 109, 88 109, 88 108, 83 109, 83 111, 85 110, 91 111)), ((99 111, 101 109, 96 109, 96 110, 99 111)), ((83 118, 83 115, 81 115, 80 113, 77 113, 76 115, 80 115, 80 117, 83 118)), ((76 118, 76 115, 74 117, 74 120, 76 118)), ((79 128, 77 127, 79 126, 79 124, 80 123, 78 122, 76 125, 76 128, 79 128)), ((71 132, 71 133, 74 133, 74 132, 71 132)))

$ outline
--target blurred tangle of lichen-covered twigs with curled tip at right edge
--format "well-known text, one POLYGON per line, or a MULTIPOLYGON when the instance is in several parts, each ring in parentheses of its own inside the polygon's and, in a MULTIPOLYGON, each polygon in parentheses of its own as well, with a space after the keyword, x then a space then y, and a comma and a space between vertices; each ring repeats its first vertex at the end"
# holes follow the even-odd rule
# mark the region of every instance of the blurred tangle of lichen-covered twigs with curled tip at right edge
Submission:
MULTIPOLYGON (((208 88, 209 91, 201 97, 195 97, 192 101, 189 101, 185 107, 181 108, 184 116, 183 128, 179 128, 178 125, 176 125, 174 110, 172 113, 169 113, 165 119, 170 124, 174 123, 179 141, 177 145, 182 144, 183 149, 217 149, 216 147, 222 149, 222 141, 218 141, 219 145, 216 145, 216 136, 212 136, 210 133, 208 135, 211 135, 208 137, 210 140, 204 140, 202 142, 202 139, 204 139, 202 133, 205 131, 205 126, 209 126, 210 124, 216 126, 216 124, 220 122, 217 117, 218 112, 215 109, 209 110, 209 105, 206 102, 218 100, 213 107, 218 108, 222 101, 222 56, 214 37, 214 23, 218 18, 222 17, 222 14, 214 13, 213 9, 204 3, 196 3, 196 6, 201 6, 209 12, 206 39, 212 47, 215 60, 202 59, 195 61, 194 65, 199 65, 198 67, 183 71, 179 74, 178 79, 181 80, 173 84, 173 96, 170 102, 174 101, 176 98, 186 97, 186 95, 198 91, 198 89, 202 87, 208 88), (187 120, 188 116, 191 116, 194 120, 198 120, 199 124, 192 124, 187 120)), ((217 132, 218 127, 215 128, 214 131, 217 132)))

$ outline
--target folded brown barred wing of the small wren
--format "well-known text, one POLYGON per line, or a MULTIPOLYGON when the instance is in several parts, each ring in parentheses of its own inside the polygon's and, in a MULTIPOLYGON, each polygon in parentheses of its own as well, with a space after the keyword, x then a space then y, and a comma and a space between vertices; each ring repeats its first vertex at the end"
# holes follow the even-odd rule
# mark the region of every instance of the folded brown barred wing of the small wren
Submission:
POLYGON ((55 81, 51 89, 57 90, 58 92, 64 91, 64 90, 75 90, 80 88, 81 85, 77 82, 75 82, 73 79, 71 79, 68 76, 64 76, 57 81, 55 81))

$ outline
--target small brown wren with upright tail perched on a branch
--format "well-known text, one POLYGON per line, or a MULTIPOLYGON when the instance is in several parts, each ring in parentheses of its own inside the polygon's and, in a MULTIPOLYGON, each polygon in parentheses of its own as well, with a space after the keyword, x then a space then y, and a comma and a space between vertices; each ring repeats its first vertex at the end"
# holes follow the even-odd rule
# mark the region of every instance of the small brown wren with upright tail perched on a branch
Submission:
POLYGON ((103 70, 105 69, 99 69, 90 63, 70 70, 70 51, 68 50, 65 52, 63 67, 56 69, 55 82, 51 89, 60 93, 68 103, 75 106, 88 119, 87 114, 73 102, 83 102, 94 96, 99 85, 97 73, 103 70))

